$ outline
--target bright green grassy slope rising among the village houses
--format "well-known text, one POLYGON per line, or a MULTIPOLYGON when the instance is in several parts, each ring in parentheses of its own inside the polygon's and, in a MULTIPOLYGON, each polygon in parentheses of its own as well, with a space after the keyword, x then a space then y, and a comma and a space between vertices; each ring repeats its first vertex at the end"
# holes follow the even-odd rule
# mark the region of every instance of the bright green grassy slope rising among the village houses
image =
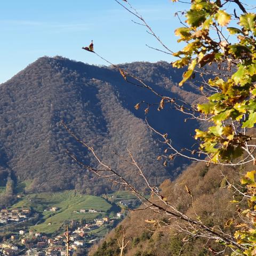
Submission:
MULTIPOLYGON (((33 207, 35 211, 43 213, 43 222, 30 229, 41 231, 47 234, 53 233, 61 228, 65 220, 79 220, 85 218, 91 220, 101 213, 76 213, 80 209, 97 209, 110 211, 111 204, 98 196, 81 195, 75 190, 63 191, 60 193, 29 194, 23 197, 12 208, 33 207), (59 207, 57 212, 44 212, 52 206, 59 207), (48 225, 51 222, 52 225, 48 225)), ((104 213, 102 213, 104 215, 104 213)))

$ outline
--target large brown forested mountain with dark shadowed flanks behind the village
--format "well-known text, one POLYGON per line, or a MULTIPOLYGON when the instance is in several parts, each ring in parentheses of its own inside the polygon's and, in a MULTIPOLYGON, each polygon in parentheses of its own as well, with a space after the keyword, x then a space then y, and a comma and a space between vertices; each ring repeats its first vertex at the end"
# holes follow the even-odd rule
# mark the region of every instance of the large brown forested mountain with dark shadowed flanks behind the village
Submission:
MULTIPOLYGON (((121 65, 155 90, 173 98, 197 101, 193 83, 180 88, 182 70, 167 62, 134 62, 121 65)), ((113 67, 98 67, 62 57, 43 57, 0 85, 0 180, 31 180, 32 191, 75 188, 100 194, 111 183, 82 169, 66 154, 74 153, 85 164, 95 159, 61 125, 63 121, 96 153, 136 185, 142 185, 134 168, 114 154, 131 151, 147 177, 159 184, 173 178, 187 164, 184 159, 163 166, 157 161, 161 144, 148 129, 145 112, 134 105, 142 100, 159 103, 151 92, 127 84, 113 67), (158 177, 157 180, 154 178, 158 177)), ((178 148, 194 143, 195 123, 185 125, 175 110, 150 108, 149 123, 171 135, 178 148), (162 120, 165 122, 162 122, 162 120)), ((96 164, 97 165, 97 164, 96 164)), ((4 184, 2 184, 4 186, 4 184)))

